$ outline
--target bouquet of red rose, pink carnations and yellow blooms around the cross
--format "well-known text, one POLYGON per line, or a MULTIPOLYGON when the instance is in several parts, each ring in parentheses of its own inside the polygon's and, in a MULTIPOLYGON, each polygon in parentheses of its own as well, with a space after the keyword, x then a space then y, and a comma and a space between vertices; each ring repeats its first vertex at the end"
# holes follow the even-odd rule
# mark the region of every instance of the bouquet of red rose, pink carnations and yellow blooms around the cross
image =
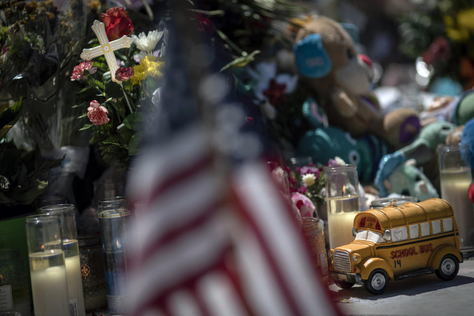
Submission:
MULTIPOLYGON (((90 144, 96 145, 103 160, 127 167, 153 123, 144 113, 159 105, 168 31, 160 23, 158 29, 132 34, 133 22, 123 7, 108 9, 100 19, 108 41, 131 36, 133 43, 114 52, 118 66, 114 76, 104 55, 83 60, 72 69, 71 80, 82 86, 80 103, 74 107, 83 109, 80 130, 92 132, 90 144)), ((97 38, 89 41, 91 46, 97 44, 97 38)))

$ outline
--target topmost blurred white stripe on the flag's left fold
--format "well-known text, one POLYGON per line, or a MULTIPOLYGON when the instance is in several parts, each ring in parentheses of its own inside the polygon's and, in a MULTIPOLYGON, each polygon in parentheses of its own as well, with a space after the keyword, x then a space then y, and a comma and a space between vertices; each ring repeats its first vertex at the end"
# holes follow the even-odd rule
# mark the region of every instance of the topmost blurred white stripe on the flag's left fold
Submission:
POLYGON ((197 125, 176 132, 160 146, 149 147, 140 158, 140 166, 131 169, 127 194, 131 197, 151 197, 153 190, 177 170, 196 163, 209 154, 209 142, 197 125))

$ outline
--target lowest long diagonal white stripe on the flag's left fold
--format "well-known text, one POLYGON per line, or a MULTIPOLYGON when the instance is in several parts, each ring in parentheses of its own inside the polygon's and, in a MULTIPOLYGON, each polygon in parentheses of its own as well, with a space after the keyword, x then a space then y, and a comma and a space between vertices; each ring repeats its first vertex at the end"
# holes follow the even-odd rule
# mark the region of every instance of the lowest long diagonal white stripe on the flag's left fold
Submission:
POLYGON ((156 249, 130 277, 131 301, 141 306, 170 286, 216 263, 229 245, 227 235, 219 216, 213 216, 201 227, 156 249))

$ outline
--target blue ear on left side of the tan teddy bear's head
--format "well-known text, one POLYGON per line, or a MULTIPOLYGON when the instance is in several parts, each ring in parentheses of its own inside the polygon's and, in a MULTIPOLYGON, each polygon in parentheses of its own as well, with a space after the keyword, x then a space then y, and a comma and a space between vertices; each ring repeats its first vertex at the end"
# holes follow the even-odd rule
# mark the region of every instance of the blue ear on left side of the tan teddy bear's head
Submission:
POLYGON ((311 34, 294 47, 298 71, 310 78, 321 78, 329 74, 331 59, 322 44, 319 34, 311 34))

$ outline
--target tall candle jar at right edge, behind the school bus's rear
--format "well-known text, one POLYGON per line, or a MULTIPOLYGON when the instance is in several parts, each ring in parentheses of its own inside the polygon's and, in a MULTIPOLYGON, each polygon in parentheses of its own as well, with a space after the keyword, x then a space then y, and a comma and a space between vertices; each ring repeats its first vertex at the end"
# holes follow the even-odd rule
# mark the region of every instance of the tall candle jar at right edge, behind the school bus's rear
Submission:
POLYGON ((464 145, 439 146, 441 197, 451 204, 459 229, 461 247, 474 246, 474 209, 468 189, 473 181, 469 148, 464 145))

